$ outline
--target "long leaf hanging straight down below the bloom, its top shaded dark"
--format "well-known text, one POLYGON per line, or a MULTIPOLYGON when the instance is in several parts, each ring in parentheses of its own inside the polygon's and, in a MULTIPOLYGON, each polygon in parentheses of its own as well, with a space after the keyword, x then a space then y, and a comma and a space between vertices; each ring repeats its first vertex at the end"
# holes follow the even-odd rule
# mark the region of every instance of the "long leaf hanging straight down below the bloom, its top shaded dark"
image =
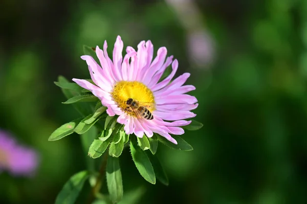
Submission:
POLYGON ((113 203, 118 203, 123 197, 122 175, 119 158, 108 156, 106 164, 107 189, 113 203))

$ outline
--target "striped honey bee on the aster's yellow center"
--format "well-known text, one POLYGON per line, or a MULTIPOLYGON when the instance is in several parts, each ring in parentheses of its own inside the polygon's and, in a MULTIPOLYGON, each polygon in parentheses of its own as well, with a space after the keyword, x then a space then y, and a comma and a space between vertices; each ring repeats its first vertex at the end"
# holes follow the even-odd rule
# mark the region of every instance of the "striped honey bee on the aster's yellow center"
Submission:
POLYGON ((152 120, 153 116, 151 112, 147 109, 150 105, 144 105, 143 102, 139 102, 137 100, 133 100, 129 98, 126 102, 127 108, 126 111, 134 111, 138 118, 144 118, 146 120, 152 120))

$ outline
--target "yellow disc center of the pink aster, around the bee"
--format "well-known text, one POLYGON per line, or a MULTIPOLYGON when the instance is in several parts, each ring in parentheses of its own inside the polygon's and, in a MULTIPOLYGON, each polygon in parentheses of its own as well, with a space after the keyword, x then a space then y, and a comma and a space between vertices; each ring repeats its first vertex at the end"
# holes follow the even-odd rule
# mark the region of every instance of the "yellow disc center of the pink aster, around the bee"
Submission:
POLYGON ((155 106, 153 105, 155 103, 155 97, 153 97, 151 90, 141 82, 119 81, 115 84, 111 95, 118 107, 130 116, 137 117, 134 111, 126 110, 128 107, 126 101, 130 98, 139 102, 140 105, 150 105, 150 107, 146 107, 150 112, 155 110, 155 106))

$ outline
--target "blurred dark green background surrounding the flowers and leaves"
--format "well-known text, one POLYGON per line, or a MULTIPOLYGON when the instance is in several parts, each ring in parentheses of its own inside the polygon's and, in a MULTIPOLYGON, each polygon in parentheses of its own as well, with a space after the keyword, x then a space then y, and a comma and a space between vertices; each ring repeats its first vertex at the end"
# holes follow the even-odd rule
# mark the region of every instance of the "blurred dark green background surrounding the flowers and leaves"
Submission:
POLYGON ((135 203, 146 204, 307 203, 307 1, 3 0, 0 11, 0 128, 41 157, 34 178, 0 174, 0 203, 54 203, 85 169, 79 135, 48 142, 78 117, 53 82, 89 78, 83 44, 106 39, 111 52, 117 35, 124 47, 150 39, 179 60, 204 124, 183 137, 191 152, 159 146, 168 187, 147 183, 124 150, 124 195, 137 190, 135 203))

